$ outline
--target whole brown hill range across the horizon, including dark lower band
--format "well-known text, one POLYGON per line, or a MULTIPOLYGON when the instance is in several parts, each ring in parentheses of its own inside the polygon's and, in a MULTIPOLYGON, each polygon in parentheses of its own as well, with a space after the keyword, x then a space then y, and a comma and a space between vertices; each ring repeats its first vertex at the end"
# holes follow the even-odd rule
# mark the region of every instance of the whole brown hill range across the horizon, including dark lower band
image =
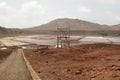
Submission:
POLYGON ((4 28, 0 26, 0 37, 2 36, 16 36, 26 34, 55 34, 57 28, 70 27, 71 34, 92 34, 92 35, 120 35, 120 24, 108 26, 100 25, 93 22, 83 21, 79 19, 56 19, 47 24, 40 26, 17 29, 17 28, 4 28))

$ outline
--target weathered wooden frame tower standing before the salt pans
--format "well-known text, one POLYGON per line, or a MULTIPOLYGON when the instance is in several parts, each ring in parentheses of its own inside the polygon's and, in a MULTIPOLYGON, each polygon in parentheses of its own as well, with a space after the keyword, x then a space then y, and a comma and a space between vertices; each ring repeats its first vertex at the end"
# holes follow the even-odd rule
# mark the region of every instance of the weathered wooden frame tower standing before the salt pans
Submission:
POLYGON ((57 48, 70 47, 70 28, 57 28, 57 48))

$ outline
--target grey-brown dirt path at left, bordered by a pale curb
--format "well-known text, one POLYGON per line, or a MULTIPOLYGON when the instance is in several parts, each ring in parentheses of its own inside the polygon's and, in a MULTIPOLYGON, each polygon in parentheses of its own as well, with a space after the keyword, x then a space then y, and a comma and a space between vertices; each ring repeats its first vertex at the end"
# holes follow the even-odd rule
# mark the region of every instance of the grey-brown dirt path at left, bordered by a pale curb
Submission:
POLYGON ((32 80, 24 61, 23 51, 14 50, 12 54, 0 64, 0 80, 32 80))

